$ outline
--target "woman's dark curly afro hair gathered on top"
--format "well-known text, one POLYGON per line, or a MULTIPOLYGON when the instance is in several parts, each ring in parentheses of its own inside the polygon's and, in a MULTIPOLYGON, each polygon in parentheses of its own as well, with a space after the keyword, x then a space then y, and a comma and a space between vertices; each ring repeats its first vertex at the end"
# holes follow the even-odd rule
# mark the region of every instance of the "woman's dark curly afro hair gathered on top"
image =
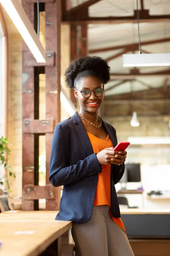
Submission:
POLYGON ((107 84, 110 80, 110 69, 108 62, 98 56, 79 57, 65 70, 65 82, 69 88, 74 88, 80 80, 96 76, 103 84, 107 84))

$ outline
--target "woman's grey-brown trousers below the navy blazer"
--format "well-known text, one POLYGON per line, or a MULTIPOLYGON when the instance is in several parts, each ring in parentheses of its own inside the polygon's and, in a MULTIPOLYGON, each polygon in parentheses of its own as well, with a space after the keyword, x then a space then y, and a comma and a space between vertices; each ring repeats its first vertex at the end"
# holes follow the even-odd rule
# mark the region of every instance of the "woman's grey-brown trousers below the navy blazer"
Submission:
POLYGON ((109 214, 107 205, 93 207, 90 221, 71 230, 79 256, 134 256, 125 232, 109 214))

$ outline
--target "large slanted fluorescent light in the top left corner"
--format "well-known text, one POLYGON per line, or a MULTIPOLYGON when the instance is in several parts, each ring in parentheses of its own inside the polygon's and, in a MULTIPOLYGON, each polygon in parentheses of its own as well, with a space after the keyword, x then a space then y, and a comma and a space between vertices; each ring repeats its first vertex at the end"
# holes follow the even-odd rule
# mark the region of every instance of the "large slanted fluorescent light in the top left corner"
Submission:
POLYGON ((0 0, 37 62, 46 62, 46 52, 19 0, 0 0))

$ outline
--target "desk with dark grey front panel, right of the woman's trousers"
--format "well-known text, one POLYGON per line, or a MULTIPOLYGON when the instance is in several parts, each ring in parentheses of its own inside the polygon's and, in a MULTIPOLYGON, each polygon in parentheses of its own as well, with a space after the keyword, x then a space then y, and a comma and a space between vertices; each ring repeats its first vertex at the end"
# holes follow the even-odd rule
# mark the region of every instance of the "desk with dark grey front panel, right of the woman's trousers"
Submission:
POLYGON ((170 256, 170 211, 122 209, 121 217, 135 256, 170 256))

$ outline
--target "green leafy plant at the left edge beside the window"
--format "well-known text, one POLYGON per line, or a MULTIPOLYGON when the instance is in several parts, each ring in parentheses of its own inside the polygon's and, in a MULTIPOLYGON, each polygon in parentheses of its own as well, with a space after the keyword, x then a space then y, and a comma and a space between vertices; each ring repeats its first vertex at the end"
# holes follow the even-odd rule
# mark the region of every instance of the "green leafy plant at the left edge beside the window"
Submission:
POLYGON ((9 177, 14 177, 15 174, 11 172, 11 166, 8 164, 8 159, 10 156, 10 150, 8 148, 8 138, 0 137, 0 166, 3 166, 6 170, 6 174, 0 175, 0 186, 6 183, 6 187, 8 189, 8 193, 11 193, 9 177))

